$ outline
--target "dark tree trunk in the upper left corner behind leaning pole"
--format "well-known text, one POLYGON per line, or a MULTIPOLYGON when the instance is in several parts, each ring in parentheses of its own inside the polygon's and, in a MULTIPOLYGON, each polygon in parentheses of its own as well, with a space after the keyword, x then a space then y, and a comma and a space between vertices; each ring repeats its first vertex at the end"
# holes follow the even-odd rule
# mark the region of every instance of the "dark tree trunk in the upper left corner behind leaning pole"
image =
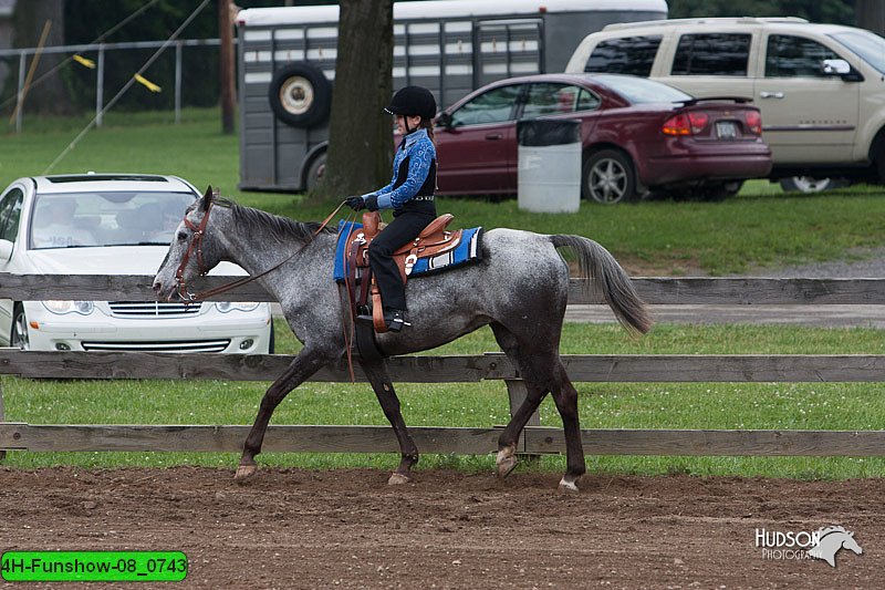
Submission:
MULTIPOLYGON (((17 48, 38 46, 48 22, 50 27, 44 46, 64 44, 64 0, 19 1, 15 3, 13 19, 17 48)), ((42 53, 32 80, 38 80, 56 68, 64 58, 61 53, 42 53)), ((31 56, 28 61, 29 66, 33 59, 31 56)), ((28 112, 40 114, 69 115, 76 111, 59 71, 43 79, 34 92, 28 93, 25 105, 28 112)))

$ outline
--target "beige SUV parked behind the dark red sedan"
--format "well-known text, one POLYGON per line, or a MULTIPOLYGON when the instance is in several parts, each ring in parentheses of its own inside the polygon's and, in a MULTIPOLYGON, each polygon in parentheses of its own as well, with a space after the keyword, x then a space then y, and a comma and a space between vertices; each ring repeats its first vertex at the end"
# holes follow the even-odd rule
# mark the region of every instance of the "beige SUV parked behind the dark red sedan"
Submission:
POLYGON ((795 18, 611 24, 584 38, 566 72, 752 97, 784 188, 885 182, 885 39, 870 31, 795 18))

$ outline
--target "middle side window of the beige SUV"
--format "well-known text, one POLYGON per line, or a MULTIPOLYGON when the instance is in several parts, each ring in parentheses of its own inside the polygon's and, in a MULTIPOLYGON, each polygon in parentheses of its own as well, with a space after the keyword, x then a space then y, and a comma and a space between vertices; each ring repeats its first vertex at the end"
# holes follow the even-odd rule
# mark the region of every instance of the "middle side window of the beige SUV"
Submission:
POLYGON ((747 75, 750 35, 684 34, 673 60, 673 75, 747 75))

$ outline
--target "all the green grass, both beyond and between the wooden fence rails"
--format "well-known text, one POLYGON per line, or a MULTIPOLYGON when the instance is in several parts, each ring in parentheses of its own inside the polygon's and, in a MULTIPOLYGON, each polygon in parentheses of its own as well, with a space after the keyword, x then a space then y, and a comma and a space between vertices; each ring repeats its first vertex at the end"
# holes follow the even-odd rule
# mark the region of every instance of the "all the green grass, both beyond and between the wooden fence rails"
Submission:
MULTIPOLYGON (((40 174, 87 120, 25 121, 25 133, 0 142, 0 180, 40 174)), ((241 194, 238 144, 219 133, 216 111, 188 111, 174 126, 170 114, 115 114, 88 134, 53 170, 148 172, 184 176, 198 186, 220 186, 240 203, 298 219, 325 217, 327 205, 300 196, 241 194)), ((825 196, 784 196, 763 182, 750 183, 722 204, 641 203, 603 207, 584 204, 577 215, 531 215, 516 201, 440 199, 440 210, 461 226, 519 227, 592 237, 648 275, 741 272, 760 266, 863 256, 885 247, 885 199, 877 188, 852 188, 825 196)), ((278 322, 279 323, 279 322, 278 322)), ((298 344, 277 325, 278 351, 298 344)), ((642 340, 615 325, 566 324, 564 353, 870 353, 883 354, 877 330, 784 327, 659 325, 642 340)), ((437 353, 497 350, 488 330, 437 353)), ((6 417, 33 424, 251 424, 266 383, 195 381, 44 382, 2 379, 6 417)), ((830 428, 875 429, 885 416, 883 385, 779 383, 582 383, 584 427, 830 428)), ((508 420, 501 383, 398 386, 410 425, 490 426, 508 420)), ((274 415, 275 424, 385 424, 366 385, 309 383, 292 393, 274 415)), ((550 401, 542 423, 560 425, 550 401)), ((334 468, 392 468, 393 455, 261 455, 268 465, 334 468)), ((8 465, 32 468, 81 466, 166 466, 200 464, 233 467, 235 455, 171 453, 21 453, 8 465)), ((691 473, 851 478, 885 475, 876 458, 591 457, 591 472, 691 473)), ((562 469, 562 457, 537 462, 532 469, 562 469)), ((491 457, 425 456, 423 468, 456 466, 491 469, 491 457)))

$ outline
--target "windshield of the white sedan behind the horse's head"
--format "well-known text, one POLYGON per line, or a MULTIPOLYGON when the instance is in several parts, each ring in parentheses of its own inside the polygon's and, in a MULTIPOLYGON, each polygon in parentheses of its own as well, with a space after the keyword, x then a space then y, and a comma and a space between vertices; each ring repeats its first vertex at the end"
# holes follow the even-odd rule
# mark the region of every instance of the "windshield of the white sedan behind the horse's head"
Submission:
POLYGON ((69 193, 38 195, 30 248, 168 246, 194 203, 190 193, 69 193))

